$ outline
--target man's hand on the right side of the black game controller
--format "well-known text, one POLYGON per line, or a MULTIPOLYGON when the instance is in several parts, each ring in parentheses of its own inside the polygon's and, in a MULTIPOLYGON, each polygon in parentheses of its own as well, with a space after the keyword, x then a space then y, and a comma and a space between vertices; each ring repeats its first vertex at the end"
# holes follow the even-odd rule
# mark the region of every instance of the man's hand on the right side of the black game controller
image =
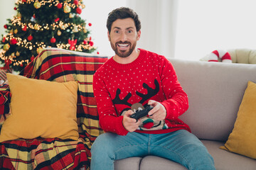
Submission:
POLYGON ((149 100, 148 104, 154 107, 151 111, 149 111, 149 118, 157 121, 161 121, 166 118, 166 108, 161 103, 158 101, 149 100))

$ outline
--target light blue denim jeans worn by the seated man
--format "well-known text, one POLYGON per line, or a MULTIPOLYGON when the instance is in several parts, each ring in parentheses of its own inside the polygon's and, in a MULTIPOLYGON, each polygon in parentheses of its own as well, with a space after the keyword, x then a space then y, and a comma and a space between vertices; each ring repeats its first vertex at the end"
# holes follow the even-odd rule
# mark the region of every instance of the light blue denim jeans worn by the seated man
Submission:
POLYGON ((91 149, 91 170, 114 169, 114 160, 154 155, 178 162, 187 169, 215 169, 213 158, 198 138, 186 130, 164 134, 110 132, 97 137, 91 149))

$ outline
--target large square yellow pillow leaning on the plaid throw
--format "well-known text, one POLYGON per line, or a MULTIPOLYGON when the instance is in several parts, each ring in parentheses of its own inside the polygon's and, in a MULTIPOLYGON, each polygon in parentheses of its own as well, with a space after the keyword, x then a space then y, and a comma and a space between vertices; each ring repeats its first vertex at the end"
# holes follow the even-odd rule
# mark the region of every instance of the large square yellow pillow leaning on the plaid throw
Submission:
POLYGON ((55 82, 7 74, 11 115, 0 142, 36 137, 78 140, 78 82, 55 82))

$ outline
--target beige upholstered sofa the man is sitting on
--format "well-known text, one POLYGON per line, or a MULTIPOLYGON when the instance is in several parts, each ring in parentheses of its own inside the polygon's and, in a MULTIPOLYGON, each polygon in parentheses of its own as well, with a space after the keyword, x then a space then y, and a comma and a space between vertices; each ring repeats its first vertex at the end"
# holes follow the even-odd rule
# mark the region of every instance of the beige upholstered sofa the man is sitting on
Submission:
MULTIPOLYGON (((188 94, 189 108, 181 115, 207 147, 216 169, 253 170, 256 160, 231 153, 220 146, 232 132, 247 81, 256 83, 256 64, 227 64, 170 59, 178 80, 188 94)), ((256 142, 255 142, 256 144, 256 142)), ((115 169, 186 169, 160 157, 132 157, 115 162, 115 169)))

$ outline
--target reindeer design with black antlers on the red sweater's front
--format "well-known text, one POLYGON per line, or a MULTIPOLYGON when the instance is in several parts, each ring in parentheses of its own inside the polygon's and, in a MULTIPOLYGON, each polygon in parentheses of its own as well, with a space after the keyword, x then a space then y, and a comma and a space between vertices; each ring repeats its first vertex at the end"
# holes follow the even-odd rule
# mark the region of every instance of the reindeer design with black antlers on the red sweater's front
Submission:
MULTIPOLYGON (((142 86, 144 89, 146 89, 147 94, 142 94, 139 91, 136 91, 137 96, 141 97, 141 101, 139 101, 139 103, 129 103, 128 100, 129 98, 131 98, 132 94, 128 93, 127 96, 125 96, 123 99, 121 99, 119 97, 119 94, 121 94, 121 90, 117 89, 116 92, 116 96, 114 98, 113 103, 114 104, 124 104, 126 106, 128 106, 127 108, 124 108, 124 110, 121 112, 121 115, 124 115, 124 113, 126 111, 128 111, 129 109, 132 109, 132 111, 135 113, 137 111, 143 110, 144 108, 146 108, 146 106, 148 106, 147 103, 144 104, 143 103, 145 101, 148 101, 149 98, 151 98, 152 96, 156 95, 159 92, 159 82, 155 79, 154 80, 154 84, 156 86, 155 89, 151 88, 149 85, 147 85, 146 83, 143 83, 142 86)), ((160 130, 160 129, 166 129, 166 124, 164 120, 161 121, 156 121, 153 120, 149 117, 144 117, 142 118, 142 123, 139 125, 139 129, 138 130, 160 130)))

